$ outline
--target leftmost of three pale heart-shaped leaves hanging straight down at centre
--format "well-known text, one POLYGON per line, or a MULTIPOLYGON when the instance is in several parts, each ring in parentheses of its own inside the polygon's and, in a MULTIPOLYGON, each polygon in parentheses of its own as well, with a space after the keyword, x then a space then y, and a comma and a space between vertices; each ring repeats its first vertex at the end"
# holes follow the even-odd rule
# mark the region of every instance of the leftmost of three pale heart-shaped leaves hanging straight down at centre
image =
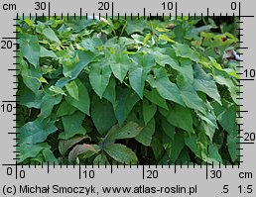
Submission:
POLYGON ((102 98, 111 76, 110 64, 105 59, 101 59, 100 62, 92 63, 90 66, 89 81, 91 87, 102 98))

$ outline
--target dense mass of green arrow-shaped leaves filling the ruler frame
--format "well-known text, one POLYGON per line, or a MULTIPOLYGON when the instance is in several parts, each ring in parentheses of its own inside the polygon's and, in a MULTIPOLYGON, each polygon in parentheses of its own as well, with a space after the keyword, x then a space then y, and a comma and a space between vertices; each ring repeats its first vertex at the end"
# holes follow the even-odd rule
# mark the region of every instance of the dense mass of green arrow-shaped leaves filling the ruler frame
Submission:
POLYGON ((232 22, 18 24, 20 162, 237 161, 232 22))

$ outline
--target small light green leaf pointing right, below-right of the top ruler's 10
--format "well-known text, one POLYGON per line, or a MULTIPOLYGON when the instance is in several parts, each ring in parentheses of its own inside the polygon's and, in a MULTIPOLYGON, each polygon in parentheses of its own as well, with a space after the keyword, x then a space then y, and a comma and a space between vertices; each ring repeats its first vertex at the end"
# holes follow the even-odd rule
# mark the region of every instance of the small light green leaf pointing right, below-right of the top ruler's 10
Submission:
POLYGON ((190 46, 188 46, 188 45, 176 43, 172 47, 175 49, 177 56, 190 58, 193 61, 199 60, 199 53, 197 51, 191 49, 190 46))

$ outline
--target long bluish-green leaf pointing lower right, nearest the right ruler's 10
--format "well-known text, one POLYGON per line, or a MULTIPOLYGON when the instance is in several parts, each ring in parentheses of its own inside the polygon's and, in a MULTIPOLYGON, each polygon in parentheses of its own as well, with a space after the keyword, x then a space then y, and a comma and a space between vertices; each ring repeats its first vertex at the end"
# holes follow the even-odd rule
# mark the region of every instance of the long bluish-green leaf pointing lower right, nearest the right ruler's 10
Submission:
POLYGON ((207 94, 221 105, 220 95, 213 78, 206 74, 198 64, 194 65, 194 89, 207 94))

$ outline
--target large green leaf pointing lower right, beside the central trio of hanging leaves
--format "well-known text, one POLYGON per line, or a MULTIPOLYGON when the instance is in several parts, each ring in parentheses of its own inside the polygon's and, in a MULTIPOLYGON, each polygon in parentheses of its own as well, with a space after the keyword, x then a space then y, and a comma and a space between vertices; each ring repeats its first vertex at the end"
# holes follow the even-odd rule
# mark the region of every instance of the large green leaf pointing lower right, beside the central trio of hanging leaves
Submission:
POLYGON ((163 74, 162 76, 157 76, 156 79, 152 75, 149 75, 147 81, 153 88, 156 88, 159 94, 167 100, 174 101, 175 103, 179 103, 184 105, 184 101, 181 97, 181 92, 175 83, 172 83, 167 74, 163 74))

